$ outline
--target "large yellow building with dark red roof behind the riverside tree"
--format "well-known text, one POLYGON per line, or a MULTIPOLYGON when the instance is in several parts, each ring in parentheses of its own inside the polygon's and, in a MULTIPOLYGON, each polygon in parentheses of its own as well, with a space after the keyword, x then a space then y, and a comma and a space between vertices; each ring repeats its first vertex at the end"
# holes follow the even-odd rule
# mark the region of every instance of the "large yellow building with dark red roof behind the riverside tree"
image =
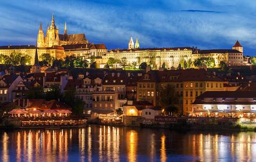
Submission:
POLYGON ((224 91, 225 83, 228 82, 204 69, 151 70, 137 82, 137 101, 149 101, 158 106, 161 87, 172 84, 181 96, 183 114, 190 115, 197 96, 205 91, 224 91))

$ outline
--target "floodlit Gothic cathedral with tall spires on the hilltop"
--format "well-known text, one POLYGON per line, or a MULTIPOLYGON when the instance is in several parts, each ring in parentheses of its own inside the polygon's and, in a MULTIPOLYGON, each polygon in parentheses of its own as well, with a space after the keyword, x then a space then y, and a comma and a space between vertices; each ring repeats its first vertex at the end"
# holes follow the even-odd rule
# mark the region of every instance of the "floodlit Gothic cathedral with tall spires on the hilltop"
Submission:
POLYGON ((73 44, 87 44, 89 41, 86 39, 84 33, 80 34, 68 34, 67 23, 65 23, 64 34, 59 33, 59 27, 56 27, 54 21, 54 15, 52 15, 52 23, 49 27, 47 25, 46 35, 44 35, 42 29, 42 23, 40 23, 38 35, 37 35, 37 47, 53 47, 73 44))

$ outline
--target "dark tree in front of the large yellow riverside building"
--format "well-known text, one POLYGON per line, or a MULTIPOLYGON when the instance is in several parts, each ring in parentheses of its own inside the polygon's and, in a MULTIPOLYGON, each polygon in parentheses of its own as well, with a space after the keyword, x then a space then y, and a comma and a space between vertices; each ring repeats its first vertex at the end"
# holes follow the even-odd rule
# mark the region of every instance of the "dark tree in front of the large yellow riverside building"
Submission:
POLYGON ((180 96, 176 93, 175 87, 171 84, 167 84, 160 89, 159 104, 164 108, 165 112, 179 113, 179 99, 180 96))

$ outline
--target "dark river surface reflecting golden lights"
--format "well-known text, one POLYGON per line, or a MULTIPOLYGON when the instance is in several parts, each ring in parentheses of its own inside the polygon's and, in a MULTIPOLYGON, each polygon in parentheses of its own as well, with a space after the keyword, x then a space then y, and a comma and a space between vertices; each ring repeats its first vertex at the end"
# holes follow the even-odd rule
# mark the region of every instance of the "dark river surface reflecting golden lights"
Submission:
POLYGON ((0 130, 0 161, 256 161, 256 133, 91 125, 0 130))

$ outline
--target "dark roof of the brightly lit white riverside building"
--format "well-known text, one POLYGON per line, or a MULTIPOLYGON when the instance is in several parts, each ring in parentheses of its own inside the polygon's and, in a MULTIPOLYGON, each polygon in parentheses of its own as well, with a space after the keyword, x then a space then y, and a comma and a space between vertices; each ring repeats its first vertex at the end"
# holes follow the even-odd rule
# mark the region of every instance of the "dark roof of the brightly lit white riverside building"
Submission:
POLYGON ((256 98, 256 91, 207 91, 197 98, 256 98))

